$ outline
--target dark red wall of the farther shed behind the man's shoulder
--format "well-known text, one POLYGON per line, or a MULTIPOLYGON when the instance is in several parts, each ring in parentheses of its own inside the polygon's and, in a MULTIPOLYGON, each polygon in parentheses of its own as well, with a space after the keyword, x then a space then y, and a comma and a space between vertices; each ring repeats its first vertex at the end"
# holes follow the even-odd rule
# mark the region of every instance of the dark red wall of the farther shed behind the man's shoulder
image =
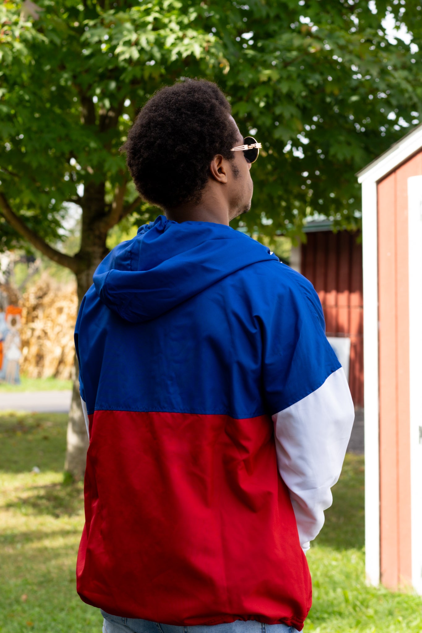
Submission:
POLYGON ((362 244, 357 234, 318 231, 302 244, 301 272, 323 306, 326 335, 351 339, 349 385, 354 405, 363 407, 362 244))

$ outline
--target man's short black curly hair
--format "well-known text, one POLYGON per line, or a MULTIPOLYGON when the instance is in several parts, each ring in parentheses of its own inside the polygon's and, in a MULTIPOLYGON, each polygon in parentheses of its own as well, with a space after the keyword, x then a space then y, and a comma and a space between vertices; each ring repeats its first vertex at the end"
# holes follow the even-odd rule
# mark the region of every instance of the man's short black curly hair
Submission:
POLYGON ((162 208, 199 202, 216 154, 233 159, 237 128, 220 88, 188 79, 161 88, 120 148, 140 196, 162 208))

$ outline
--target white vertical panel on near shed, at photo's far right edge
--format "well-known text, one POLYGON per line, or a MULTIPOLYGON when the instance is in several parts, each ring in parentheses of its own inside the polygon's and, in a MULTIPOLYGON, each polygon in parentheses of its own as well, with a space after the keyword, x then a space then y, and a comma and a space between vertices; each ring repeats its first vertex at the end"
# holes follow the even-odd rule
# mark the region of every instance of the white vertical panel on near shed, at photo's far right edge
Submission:
POLYGON ((422 175, 409 196, 409 363, 412 582, 422 594, 422 175))

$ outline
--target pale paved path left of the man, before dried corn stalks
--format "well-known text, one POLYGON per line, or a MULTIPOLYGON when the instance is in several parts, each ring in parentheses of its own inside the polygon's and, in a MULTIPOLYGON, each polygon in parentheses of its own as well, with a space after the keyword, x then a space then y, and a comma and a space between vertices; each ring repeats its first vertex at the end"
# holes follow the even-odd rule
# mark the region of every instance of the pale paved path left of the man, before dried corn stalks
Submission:
POLYGON ((0 410, 68 413, 70 400, 70 389, 64 391, 6 392, 0 393, 0 410))

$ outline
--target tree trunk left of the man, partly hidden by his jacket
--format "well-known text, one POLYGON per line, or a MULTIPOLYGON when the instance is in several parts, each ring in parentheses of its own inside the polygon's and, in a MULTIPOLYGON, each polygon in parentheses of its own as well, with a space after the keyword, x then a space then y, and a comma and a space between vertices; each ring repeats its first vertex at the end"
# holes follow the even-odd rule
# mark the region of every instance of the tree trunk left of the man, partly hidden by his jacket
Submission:
MULTIPOLYGON (((92 275, 97 266, 108 253, 106 248, 107 230, 101 223, 104 217, 104 183, 85 187, 84 211, 82 221, 82 240, 80 248, 80 260, 85 263, 78 270, 78 309, 82 303, 85 293, 92 284, 92 275)), ((79 394, 79 368, 78 359, 75 354, 75 377, 73 380, 73 391, 69 411, 69 421, 67 430, 67 446, 65 459, 65 473, 71 479, 77 481, 85 474, 87 461, 87 449, 89 439, 85 425, 84 413, 79 394)))

